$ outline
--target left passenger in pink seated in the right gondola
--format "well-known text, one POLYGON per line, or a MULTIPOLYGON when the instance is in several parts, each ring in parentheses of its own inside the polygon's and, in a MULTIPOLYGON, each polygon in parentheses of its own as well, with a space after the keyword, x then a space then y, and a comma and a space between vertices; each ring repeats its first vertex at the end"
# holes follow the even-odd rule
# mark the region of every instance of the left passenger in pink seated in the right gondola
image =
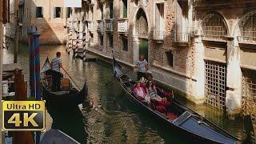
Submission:
POLYGON ((146 88, 141 83, 138 82, 134 86, 133 92, 140 100, 145 100, 145 102, 150 103, 150 97, 147 95, 146 88))

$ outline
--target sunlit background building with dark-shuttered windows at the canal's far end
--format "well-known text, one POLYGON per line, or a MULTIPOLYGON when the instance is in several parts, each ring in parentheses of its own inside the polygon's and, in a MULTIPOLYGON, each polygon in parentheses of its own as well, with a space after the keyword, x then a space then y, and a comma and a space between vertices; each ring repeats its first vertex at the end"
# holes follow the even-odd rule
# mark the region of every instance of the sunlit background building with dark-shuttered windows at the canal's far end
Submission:
POLYGON ((14 38, 17 22, 19 35, 27 42, 27 29, 37 26, 41 30, 41 44, 66 43, 67 8, 58 0, 11 0, 10 22, 6 25, 7 36, 14 38))

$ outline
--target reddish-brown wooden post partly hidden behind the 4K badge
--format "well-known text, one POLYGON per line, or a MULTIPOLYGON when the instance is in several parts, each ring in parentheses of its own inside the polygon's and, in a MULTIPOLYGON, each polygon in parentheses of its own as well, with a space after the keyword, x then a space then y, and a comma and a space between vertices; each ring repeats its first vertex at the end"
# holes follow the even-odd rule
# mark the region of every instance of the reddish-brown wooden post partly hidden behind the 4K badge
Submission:
MULTIPOLYGON (((21 70, 14 70, 15 100, 26 100, 26 82, 21 70)), ((33 134, 30 131, 13 132, 13 144, 34 144, 33 134)))

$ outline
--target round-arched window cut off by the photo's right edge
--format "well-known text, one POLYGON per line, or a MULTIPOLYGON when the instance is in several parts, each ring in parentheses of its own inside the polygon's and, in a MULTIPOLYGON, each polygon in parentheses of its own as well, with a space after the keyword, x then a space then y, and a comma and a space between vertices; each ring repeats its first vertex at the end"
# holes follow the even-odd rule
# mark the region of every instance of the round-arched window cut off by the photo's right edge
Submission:
POLYGON ((246 14, 239 23, 241 38, 243 42, 256 42, 256 12, 246 14))

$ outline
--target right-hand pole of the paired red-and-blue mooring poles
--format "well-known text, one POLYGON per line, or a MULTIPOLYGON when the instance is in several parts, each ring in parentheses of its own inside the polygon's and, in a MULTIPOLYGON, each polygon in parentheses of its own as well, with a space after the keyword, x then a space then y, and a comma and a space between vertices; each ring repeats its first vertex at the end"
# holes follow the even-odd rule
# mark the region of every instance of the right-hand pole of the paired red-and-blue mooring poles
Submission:
POLYGON ((39 37, 40 32, 38 28, 33 34, 34 36, 34 70, 35 70, 35 96, 37 100, 41 99, 41 84, 40 84, 40 50, 39 50, 39 37))

